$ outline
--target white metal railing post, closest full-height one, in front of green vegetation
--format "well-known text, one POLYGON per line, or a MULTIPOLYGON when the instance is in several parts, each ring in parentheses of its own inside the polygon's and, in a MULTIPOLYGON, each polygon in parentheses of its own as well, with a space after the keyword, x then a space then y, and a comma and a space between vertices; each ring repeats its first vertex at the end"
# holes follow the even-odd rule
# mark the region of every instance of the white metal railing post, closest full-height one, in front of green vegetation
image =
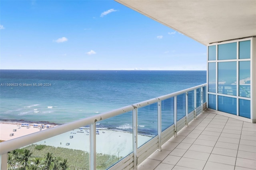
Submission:
POLYGON ((96 170, 96 124, 90 124, 90 170, 96 170))

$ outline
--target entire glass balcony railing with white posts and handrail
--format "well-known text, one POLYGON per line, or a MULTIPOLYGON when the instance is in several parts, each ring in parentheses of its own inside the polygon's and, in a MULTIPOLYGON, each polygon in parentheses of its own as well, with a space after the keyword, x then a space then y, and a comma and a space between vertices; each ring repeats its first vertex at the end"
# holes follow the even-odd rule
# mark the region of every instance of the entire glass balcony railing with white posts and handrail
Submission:
POLYGON ((1 170, 136 169, 196 119, 205 102, 203 84, 7 140, 0 143, 1 170))

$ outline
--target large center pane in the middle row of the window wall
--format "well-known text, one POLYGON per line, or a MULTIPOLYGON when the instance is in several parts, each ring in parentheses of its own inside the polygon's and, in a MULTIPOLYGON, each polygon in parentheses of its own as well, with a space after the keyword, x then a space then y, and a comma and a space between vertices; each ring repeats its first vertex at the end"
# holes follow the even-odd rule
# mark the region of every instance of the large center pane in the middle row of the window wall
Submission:
POLYGON ((218 63, 218 93, 236 96, 236 61, 218 63))

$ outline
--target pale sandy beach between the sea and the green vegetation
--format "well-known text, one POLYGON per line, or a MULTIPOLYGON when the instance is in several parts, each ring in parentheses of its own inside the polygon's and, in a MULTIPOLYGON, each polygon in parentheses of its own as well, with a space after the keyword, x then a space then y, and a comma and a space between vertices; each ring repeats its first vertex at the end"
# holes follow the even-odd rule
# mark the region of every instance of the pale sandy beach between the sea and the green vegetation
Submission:
MULTIPOLYGON (((46 126, 53 127, 53 125, 44 125, 44 127, 46 126)), ((36 127, 34 125, 22 125, 18 123, 0 123, 0 140, 10 140, 38 132, 40 129, 46 130, 47 128, 42 128, 42 125, 36 127), (13 134, 13 136, 10 134, 13 134)), ((88 128, 80 128, 37 142, 36 144, 89 151, 89 134, 90 130, 88 128)), ((138 146, 141 146, 151 138, 150 136, 138 135, 138 146)), ((96 152, 116 156, 130 154, 132 152, 132 133, 97 129, 96 152)))

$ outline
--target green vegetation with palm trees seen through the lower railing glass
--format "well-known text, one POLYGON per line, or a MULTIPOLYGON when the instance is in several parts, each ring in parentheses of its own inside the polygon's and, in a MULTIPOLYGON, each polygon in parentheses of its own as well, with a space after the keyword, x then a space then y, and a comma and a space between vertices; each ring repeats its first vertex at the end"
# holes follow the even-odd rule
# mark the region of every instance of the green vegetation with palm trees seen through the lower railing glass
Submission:
MULTIPOLYGON (((89 156, 82 150, 33 144, 8 153, 8 170, 87 170, 89 156)), ((107 169, 120 159, 96 154, 96 169, 107 169)))

